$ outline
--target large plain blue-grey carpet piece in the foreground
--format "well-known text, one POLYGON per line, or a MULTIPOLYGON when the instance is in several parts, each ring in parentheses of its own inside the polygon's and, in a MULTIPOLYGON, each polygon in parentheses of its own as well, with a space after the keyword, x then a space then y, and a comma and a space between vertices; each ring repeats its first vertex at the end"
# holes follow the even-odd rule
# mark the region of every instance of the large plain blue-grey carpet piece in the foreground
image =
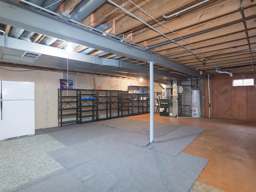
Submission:
POLYGON ((184 153, 173 157, 111 136, 48 154, 95 192, 186 192, 208 161, 184 153))

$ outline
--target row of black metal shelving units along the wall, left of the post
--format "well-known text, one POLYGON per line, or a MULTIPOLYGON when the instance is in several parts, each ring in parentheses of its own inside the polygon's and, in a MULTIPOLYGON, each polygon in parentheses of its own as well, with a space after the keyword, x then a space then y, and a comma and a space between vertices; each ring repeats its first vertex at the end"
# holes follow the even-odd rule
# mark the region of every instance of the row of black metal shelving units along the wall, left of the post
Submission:
POLYGON ((59 126, 148 113, 149 87, 129 86, 128 89, 58 89, 59 126))

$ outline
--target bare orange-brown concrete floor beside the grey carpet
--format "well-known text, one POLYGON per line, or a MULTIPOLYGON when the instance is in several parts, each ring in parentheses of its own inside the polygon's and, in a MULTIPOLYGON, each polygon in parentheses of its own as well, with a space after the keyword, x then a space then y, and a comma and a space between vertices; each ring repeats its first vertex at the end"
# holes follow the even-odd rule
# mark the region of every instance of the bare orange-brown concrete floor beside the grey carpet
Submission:
MULTIPOLYGON (((150 120, 150 114, 127 118, 150 120)), ((207 158, 197 181, 225 192, 256 191, 256 122, 208 118, 172 118, 154 114, 154 122, 205 130, 182 152, 207 158)))

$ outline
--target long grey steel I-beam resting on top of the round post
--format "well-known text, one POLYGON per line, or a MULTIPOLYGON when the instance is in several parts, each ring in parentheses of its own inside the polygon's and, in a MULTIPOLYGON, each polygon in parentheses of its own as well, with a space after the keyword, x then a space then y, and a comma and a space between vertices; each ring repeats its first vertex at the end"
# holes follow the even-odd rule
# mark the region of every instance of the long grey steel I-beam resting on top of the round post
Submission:
POLYGON ((206 74, 200 75, 198 71, 182 64, 162 58, 161 56, 136 48, 127 43, 120 42, 114 38, 109 38, 92 30, 81 28, 54 16, 32 10, 21 4, 16 4, 8 0, 0 0, 0 7, 2 10, 0 12, 0 20, 4 24, 24 28, 25 30, 122 55, 135 60, 143 62, 152 61, 158 66, 188 74, 189 76, 207 78, 206 74))

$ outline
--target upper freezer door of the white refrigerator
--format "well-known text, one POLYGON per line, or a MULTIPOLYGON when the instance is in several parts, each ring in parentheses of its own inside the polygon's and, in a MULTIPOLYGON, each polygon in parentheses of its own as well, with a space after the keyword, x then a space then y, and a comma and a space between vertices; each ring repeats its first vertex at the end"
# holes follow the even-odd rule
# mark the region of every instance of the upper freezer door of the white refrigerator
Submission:
POLYGON ((2 81, 3 101, 30 100, 34 95, 34 82, 2 81))

